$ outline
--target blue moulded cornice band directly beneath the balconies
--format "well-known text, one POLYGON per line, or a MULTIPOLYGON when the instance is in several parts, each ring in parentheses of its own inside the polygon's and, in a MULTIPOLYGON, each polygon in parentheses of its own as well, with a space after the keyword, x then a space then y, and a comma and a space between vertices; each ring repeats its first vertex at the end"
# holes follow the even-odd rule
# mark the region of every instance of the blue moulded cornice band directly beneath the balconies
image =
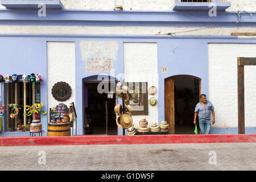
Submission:
POLYGON ((38 11, 0 9, 0 24, 65 26, 179 26, 179 27, 255 27, 254 13, 217 11, 210 17, 208 11, 96 11, 96 10, 47 10, 45 17, 38 11))

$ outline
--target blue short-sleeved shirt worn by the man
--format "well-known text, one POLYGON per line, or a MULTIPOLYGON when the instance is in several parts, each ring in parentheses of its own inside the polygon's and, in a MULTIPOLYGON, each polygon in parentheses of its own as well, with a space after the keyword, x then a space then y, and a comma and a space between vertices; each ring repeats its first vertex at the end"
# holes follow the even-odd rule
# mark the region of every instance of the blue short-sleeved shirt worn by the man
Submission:
POLYGON ((199 118, 210 119, 210 112, 214 110, 212 102, 207 101, 206 107, 201 104, 201 102, 197 103, 195 113, 198 113, 199 118))

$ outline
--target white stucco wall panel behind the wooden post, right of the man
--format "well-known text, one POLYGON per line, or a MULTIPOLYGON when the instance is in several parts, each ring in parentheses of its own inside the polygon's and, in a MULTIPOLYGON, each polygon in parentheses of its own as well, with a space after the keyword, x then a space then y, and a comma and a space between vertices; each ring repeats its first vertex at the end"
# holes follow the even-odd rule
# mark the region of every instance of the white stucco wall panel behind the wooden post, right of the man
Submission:
MULTIPOLYGON (((256 57, 256 44, 209 44, 209 100, 213 127, 238 127, 237 57, 256 57)), ((245 126, 256 126, 256 66, 245 66, 245 126)))

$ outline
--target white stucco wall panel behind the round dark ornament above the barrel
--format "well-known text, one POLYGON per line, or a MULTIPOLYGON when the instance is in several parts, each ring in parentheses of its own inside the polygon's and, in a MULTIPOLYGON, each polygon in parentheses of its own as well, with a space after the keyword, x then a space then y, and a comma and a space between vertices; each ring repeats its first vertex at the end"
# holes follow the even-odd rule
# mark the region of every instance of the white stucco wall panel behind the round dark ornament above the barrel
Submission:
POLYGON ((48 108, 55 107, 60 103, 63 103, 69 107, 71 102, 75 103, 76 101, 75 90, 75 43, 47 42, 48 108), (55 98, 52 97, 52 86, 59 81, 67 82, 69 86, 71 86, 72 94, 67 101, 57 101, 55 100, 55 98))

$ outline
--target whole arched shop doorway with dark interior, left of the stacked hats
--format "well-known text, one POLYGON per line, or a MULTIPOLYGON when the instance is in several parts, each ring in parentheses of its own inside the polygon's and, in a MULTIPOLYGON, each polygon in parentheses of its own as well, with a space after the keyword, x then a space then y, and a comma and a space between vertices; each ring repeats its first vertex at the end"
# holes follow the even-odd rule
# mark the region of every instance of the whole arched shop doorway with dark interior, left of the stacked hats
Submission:
POLYGON ((82 79, 85 135, 118 134, 114 113, 116 78, 102 77, 94 75, 82 79))

